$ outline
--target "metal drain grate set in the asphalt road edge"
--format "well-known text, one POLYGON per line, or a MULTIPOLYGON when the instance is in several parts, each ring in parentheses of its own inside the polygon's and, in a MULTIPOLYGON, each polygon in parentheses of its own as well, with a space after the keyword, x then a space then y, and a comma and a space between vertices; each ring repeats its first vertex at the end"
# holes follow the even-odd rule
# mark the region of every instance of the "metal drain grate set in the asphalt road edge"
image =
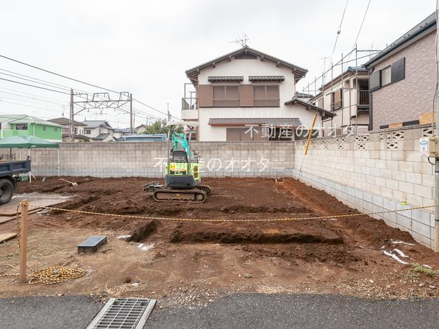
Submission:
POLYGON ((86 329, 142 329, 156 300, 110 298, 86 329))

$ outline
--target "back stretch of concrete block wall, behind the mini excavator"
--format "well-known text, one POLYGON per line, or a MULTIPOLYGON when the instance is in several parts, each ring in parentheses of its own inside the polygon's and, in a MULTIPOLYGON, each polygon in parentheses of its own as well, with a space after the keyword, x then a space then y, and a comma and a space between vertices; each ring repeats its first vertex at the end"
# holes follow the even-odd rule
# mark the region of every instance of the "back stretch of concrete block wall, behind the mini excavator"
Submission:
MULTIPOLYGON (((285 177, 292 175, 293 143, 194 142, 202 175, 213 177, 285 177)), ((19 154, 18 151, 15 151, 19 154)), ((161 178, 166 142, 61 143, 60 174, 95 177, 143 176, 161 178)), ((25 156, 22 152, 22 158, 25 156)), ((32 149, 34 175, 58 174, 56 149, 32 149)))

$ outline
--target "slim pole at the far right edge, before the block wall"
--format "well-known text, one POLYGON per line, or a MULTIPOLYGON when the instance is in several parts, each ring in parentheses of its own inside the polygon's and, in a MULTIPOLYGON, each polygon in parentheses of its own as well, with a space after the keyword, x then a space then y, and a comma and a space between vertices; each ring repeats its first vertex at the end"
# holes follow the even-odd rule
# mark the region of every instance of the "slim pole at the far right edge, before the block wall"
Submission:
MULTIPOLYGON (((436 0, 436 138, 439 136, 439 0, 436 0)), ((439 158, 434 161, 434 252, 439 252, 439 158)))

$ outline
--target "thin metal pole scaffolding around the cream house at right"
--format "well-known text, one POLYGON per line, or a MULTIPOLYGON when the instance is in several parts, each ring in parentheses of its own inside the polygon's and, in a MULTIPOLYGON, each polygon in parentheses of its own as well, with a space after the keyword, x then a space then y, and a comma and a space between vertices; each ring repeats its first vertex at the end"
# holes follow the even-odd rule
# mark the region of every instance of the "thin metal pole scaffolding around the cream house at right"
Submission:
MULTIPOLYGON (((363 99, 364 101, 366 101, 367 97, 367 101, 369 100, 369 91, 367 90, 367 94, 364 93, 364 95, 357 96, 357 101, 355 101, 355 103, 353 103, 351 101, 351 99, 349 99, 348 102, 339 100, 339 101, 335 101, 335 97, 333 97, 333 93, 337 90, 342 90, 340 91, 340 94, 343 95, 343 93, 348 90, 349 95, 351 95, 351 90, 355 90, 355 92, 357 90, 359 90, 358 86, 359 86, 359 82, 358 82, 358 77, 359 77, 359 71, 360 73, 364 73, 364 64, 359 64, 361 62, 364 62, 364 60, 370 60, 370 58, 372 58, 373 56, 377 55, 377 53, 379 53, 381 50, 378 49, 368 49, 368 50, 362 50, 362 49, 358 49, 357 45, 355 45, 355 47, 346 55, 343 55, 342 53, 342 58, 336 62, 336 63, 329 63, 330 67, 329 69, 326 69, 326 67, 324 67, 323 72, 320 76, 318 77, 314 77, 314 80, 312 82, 309 82, 309 84, 307 84, 307 86, 305 86, 304 88, 302 88, 302 93, 297 93, 297 97, 298 98, 302 98, 305 97, 305 95, 311 95, 312 98, 309 100, 309 102, 311 103, 315 103, 316 100, 318 99, 322 99, 322 103, 318 103, 316 104, 317 106, 319 106, 320 108, 329 110, 331 112, 341 112, 342 113, 342 119, 341 119, 341 125, 340 127, 332 127, 331 130, 333 131, 332 133, 329 133, 329 135, 333 136, 338 135, 338 134, 348 134, 350 132, 357 132, 357 126, 358 126, 358 114, 356 115, 356 120, 355 120, 355 125, 351 124, 351 110, 353 106, 357 106, 357 101, 358 99, 363 99), (351 57, 355 55, 355 58, 351 59, 351 57), (354 66, 350 66, 349 64, 354 64, 354 66), (351 69, 349 71, 346 71, 348 69, 351 69), (326 71, 325 71, 326 70, 326 71), (356 79, 356 85, 355 86, 351 86, 351 83, 349 84, 349 86, 346 88, 346 86, 344 86, 345 83, 345 77, 346 75, 349 76, 349 81, 351 81, 351 79, 356 79), (327 77, 330 78, 330 80, 327 82, 327 77), (329 88, 330 87, 330 88, 329 88), (355 88, 354 88, 355 87, 355 88), (328 104, 325 103, 325 97, 330 94, 331 99, 330 99, 330 103, 329 103, 329 108, 328 108, 328 104), (321 98, 320 98, 321 97, 321 98), (341 106, 337 107, 336 102, 340 102, 341 106), (347 106, 346 106, 346 103, 347 106), (344 110, 348 109, 348 113, 350 115, 349 117, 349 125, 344 125, 344 118, 343 118, 343 114, 344 114, 344 110), (351 126, 351 128, 349 128, 348 126, 351 126), (344 129, 346 128, 346 129, 344 129), (337 130, 339 129, 339 130, 337 130), (351 131, 348 131, 351 130, 351 131), (339 133, 340 131, 340 133, 339 133)), ((367 73, 368 74, 368 73, 367 73)), ((368 77, 368 75, 367 75, 368 77)), ((364 90, 363 90, 364 91, 364 90)), ((342 96, 343 97, 343 96, 342 96)), ((303 101, 307 101, 305 99, 302 99, 303 101)))

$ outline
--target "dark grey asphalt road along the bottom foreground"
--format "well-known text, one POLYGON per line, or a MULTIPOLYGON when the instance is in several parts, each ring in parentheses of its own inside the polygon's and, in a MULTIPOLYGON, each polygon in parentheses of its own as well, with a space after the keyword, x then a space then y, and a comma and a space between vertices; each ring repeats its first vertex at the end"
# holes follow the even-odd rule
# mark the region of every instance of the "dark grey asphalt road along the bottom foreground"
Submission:
MULTIPOLYGON (((0 299, 0 328, 85 328, 102 306, 84 296, 0 299)), ((237 294, 203 308, 156 308, 145 328, 403 329, 437 328, 438 323, 437 299, 237 294)))

